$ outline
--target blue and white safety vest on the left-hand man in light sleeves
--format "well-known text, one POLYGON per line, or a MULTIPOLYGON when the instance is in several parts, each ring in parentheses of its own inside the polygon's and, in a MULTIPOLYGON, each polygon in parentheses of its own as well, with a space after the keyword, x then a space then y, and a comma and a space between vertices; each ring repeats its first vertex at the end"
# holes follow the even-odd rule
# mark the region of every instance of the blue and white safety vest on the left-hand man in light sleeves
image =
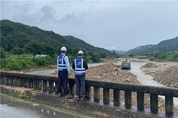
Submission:
POLYGON ((64 58, 65 58, 64 54, 61 54, 58 56, 58 70, 59 71, 67 71, 67 65, 66 65, 64 58))

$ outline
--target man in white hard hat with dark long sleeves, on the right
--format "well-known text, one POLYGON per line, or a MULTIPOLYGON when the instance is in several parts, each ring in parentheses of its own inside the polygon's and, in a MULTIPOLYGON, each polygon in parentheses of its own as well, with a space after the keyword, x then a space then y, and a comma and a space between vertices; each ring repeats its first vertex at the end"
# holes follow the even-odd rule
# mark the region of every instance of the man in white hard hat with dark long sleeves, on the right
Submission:
POLYGON ((80 100, 80 86, 82 89, 81 100, 85 100, 85 70, 88 69, 88 64, 82 58, 83 51, 78 52, 78 57, 73 61, 72 68, 75 70, 75 84, 76 84, 76 95, 75 98, 77 101, 80 100))

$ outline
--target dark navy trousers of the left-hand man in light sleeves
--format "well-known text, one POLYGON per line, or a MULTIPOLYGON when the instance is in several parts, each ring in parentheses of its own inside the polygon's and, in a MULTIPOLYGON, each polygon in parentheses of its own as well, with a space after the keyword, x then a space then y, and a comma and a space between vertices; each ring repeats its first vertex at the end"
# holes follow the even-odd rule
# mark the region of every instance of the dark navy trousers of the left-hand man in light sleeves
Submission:
POLYGON ((67 71, 58 71, 58 93, 69 94, 67 71), (63 88, 64 91, 62 91, 61 88, 63 88))

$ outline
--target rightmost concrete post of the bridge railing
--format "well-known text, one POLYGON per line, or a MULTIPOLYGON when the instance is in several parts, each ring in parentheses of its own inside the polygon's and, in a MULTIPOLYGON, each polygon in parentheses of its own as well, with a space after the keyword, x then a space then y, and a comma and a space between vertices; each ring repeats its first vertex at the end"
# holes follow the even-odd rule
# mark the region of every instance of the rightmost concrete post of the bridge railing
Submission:
POLYGON ((173 97, 165 96, 166 115, 173 115, 173 97))

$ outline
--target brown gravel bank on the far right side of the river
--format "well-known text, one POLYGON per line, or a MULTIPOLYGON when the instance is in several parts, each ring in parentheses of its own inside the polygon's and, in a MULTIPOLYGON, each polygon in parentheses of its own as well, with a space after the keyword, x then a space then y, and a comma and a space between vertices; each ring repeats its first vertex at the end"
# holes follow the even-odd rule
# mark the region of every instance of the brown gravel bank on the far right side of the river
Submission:
POLYGON ((148 62, 141 70, 165 86, 178 88, 178 63, 148 62))

